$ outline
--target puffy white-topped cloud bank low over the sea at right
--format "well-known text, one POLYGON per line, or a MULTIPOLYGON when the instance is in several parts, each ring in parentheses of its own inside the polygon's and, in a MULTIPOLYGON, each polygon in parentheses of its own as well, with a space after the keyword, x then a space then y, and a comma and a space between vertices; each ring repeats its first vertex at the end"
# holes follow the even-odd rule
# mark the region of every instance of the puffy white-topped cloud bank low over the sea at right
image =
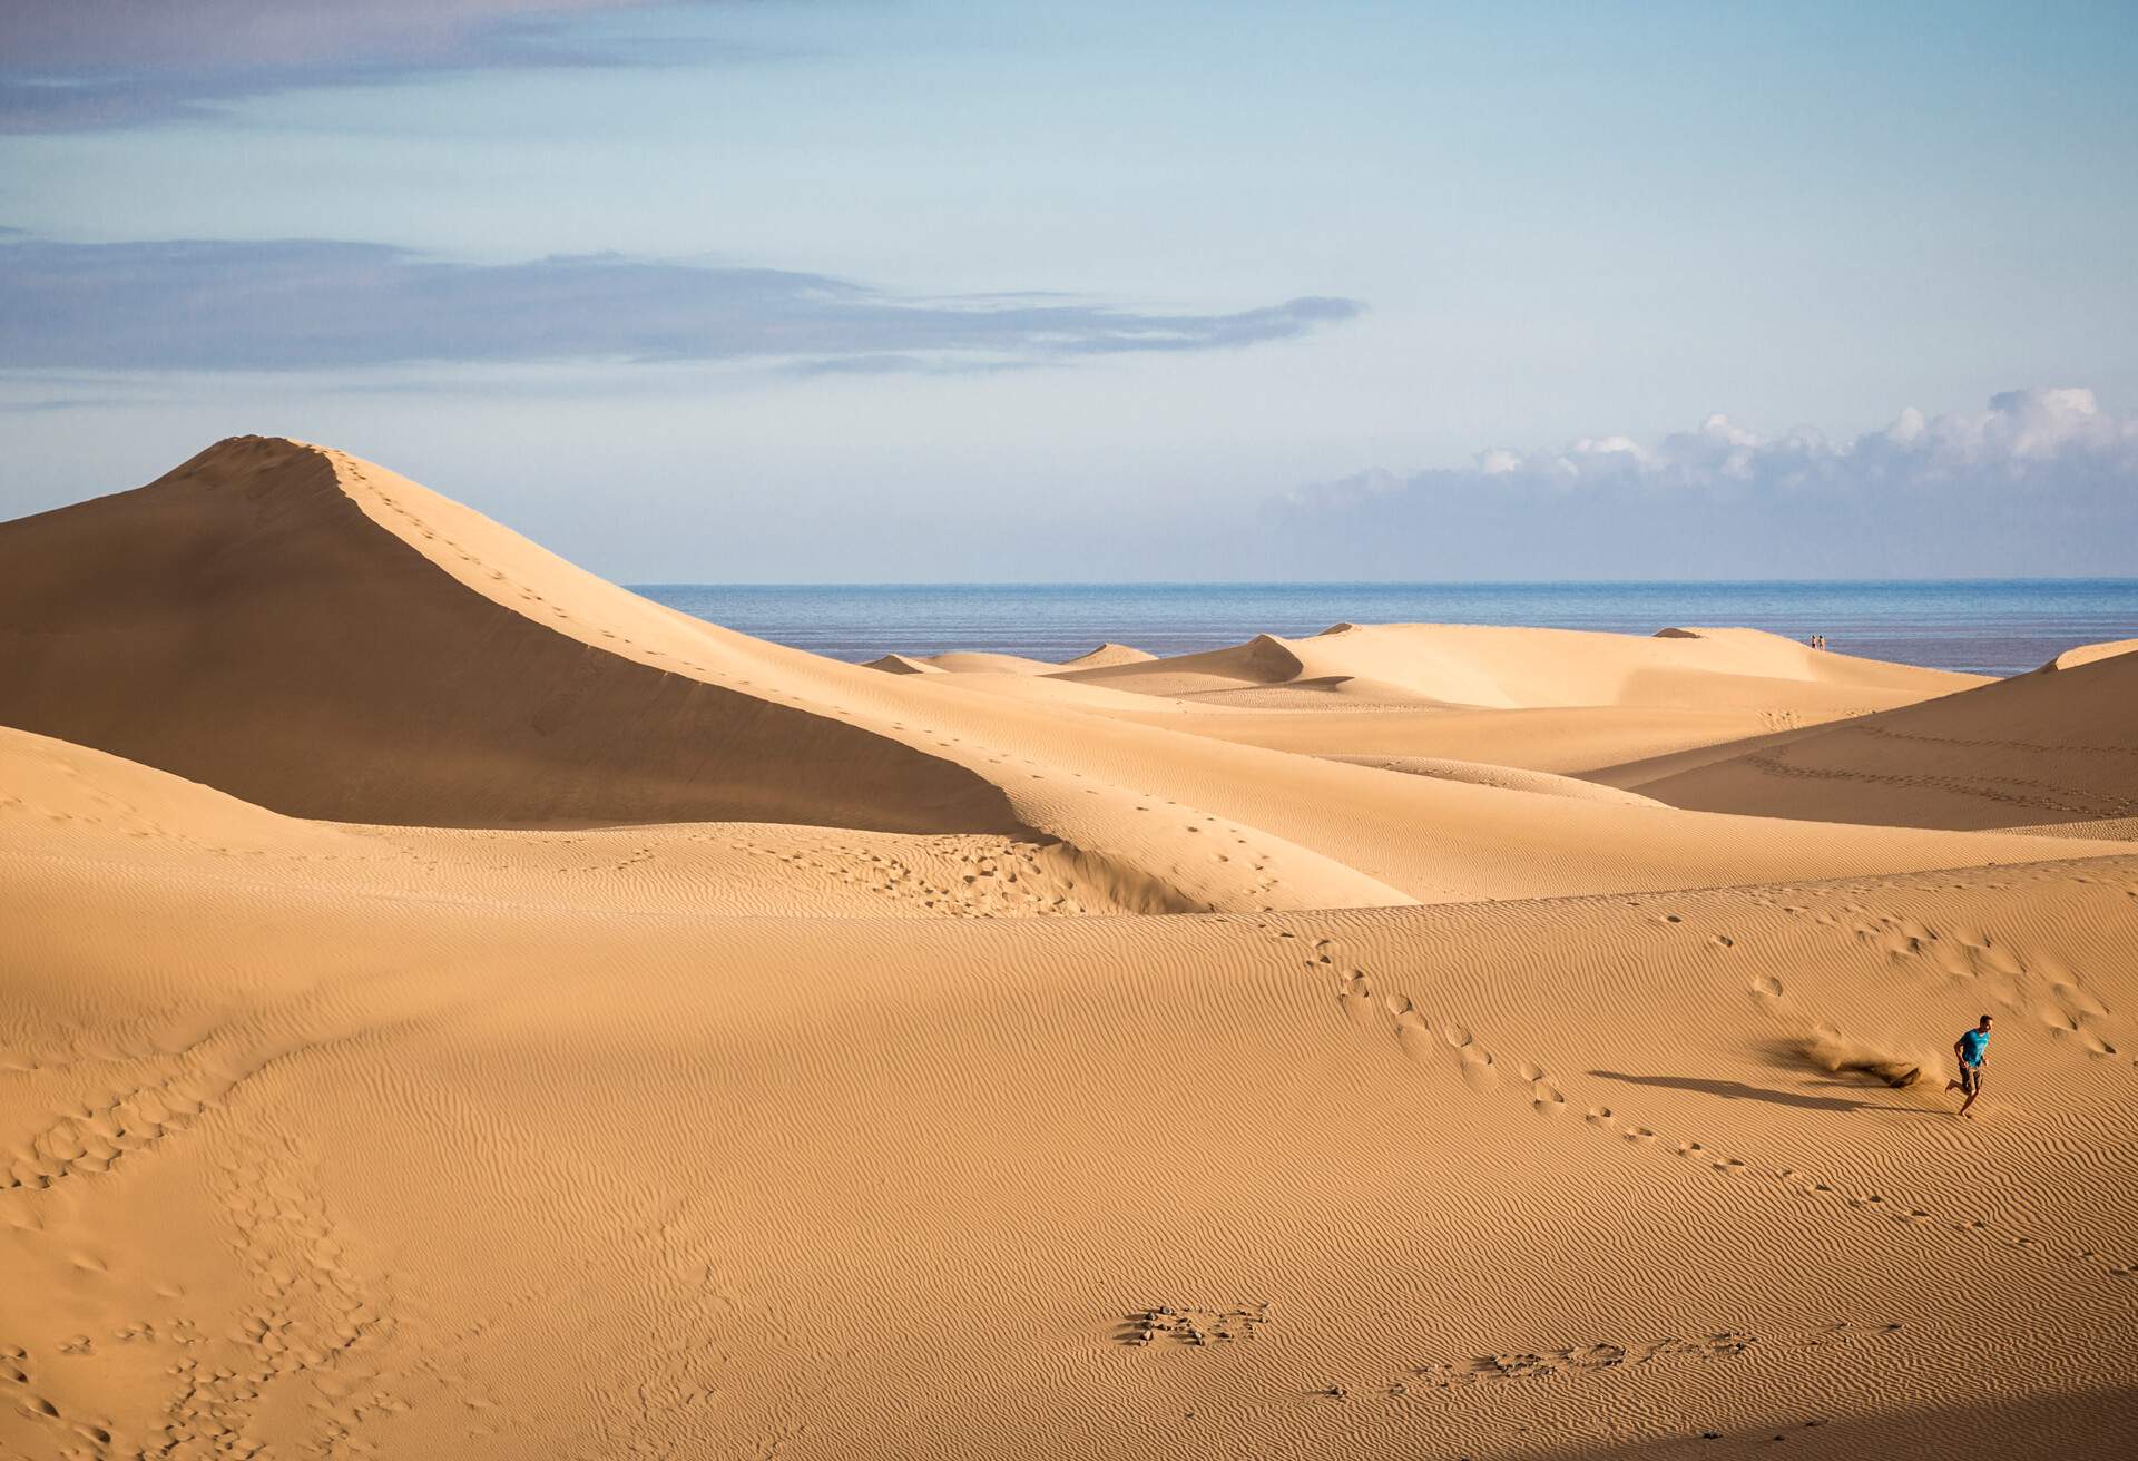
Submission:
POLYGON ((2138 571, 2138 415, 2078 387, 1852 441, 1713 415, 1655 445, 1360 473, 1266 513, 1289 550, 1375 578, 2114 575, 2138 571))

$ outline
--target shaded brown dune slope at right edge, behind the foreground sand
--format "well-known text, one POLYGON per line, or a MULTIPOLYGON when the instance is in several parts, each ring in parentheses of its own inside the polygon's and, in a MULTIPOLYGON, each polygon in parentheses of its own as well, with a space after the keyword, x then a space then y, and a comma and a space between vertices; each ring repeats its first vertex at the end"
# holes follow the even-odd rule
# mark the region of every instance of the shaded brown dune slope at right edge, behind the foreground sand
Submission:
POLYGON ((2033 674, 1740 747, 1610 768, 1672 806, 1922 828, 2138 815, 2138 652, 2059 655, 2033 674))

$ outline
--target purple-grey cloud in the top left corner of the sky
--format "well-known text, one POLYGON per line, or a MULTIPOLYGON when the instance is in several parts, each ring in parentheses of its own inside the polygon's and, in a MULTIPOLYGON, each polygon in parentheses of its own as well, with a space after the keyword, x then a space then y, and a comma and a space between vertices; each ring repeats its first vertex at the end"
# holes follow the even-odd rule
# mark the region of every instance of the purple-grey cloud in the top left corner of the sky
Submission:
POLYGON ((0 4, 0 133, 199 118, 304 86, 755 53, 588 28, 654 4, 712 0, 13 0, 0 4))

